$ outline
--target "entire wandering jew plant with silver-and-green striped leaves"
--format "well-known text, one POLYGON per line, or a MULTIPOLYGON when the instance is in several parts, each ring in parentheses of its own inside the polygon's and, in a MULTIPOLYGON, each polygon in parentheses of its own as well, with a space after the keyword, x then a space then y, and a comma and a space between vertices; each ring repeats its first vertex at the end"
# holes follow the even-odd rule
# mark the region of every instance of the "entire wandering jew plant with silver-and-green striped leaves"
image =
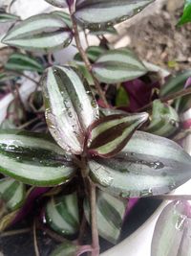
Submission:
MULTIPOLYGON (((115 24, 153 0, 46 2, 70 14, 54 11, 21 20, 0 12, 0 22, 13 22, 2 42, 16 49, 3 67, 0 84, 16 84, 23 76, 37 83, 28 109, 19 88, 11 88, 14 101, 0 129, 0 231, 23 220, 38 198, 34 240, 35 229, 46 225, 45 231, 63 242, 51 256, 97 256, 99 237, 117 244, 131 198, 161 196, 191 178, 191 156, 173 141, 183 132, 180 112, 190 105, 190 84, 183 85, 191 71, 167 78, 161 86, 152 80, 153 74, 159 78, 155 70, 130 49, 112 49, 104 36, 117 34, 115 24), (79 32, 97 36, 100 45, 84 51, 79 32), (74 61, 55 64, 53 52, 73 39, 78 50, 74 61), (32 52, 43 57, 34 58, 32 52), (40 75, 39 82, 29 76, 32 72, 40 75), (115 96, 110 93, 114 87, 115 96), (142 94, 136 95, 139 88, 142 94)), ((186 201, 167 206, 168 227, 160 224, 165 222, 162 213, 152 255, 177 255, 165 254, 164 230, 174 238, 182 220, 188 222, 187 233, 177 235, 179 255, 189 254, 183 253, 190 236, 188 209, 186 201)))

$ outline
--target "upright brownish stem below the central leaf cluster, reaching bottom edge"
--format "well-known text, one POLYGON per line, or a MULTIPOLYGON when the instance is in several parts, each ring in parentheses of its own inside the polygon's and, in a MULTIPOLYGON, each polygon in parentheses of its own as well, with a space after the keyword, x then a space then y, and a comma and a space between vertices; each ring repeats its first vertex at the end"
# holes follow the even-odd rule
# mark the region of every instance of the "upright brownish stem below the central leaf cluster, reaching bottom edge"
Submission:
POLYGON ((91 205, 91 224, 92 224, 92 256, 99 255, 99 240, 97 230, 97 218, 96 218, 96 185, 90 181, 90 205, 91 205))

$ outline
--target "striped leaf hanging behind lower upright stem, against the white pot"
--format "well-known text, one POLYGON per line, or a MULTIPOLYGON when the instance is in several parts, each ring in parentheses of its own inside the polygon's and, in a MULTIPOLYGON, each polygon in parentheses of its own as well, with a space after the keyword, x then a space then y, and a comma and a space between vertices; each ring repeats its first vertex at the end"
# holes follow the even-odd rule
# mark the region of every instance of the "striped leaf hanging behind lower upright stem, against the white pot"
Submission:
MULTIPOLYGON (((105 192, 97 191, 96 215, 100 237, 112 244, 117 244, 126 207, 126 199, 114 198, 105 192)), ((86 219, 90 222, 90 206, 88 200, 84 201, 84 212, 86 219)))

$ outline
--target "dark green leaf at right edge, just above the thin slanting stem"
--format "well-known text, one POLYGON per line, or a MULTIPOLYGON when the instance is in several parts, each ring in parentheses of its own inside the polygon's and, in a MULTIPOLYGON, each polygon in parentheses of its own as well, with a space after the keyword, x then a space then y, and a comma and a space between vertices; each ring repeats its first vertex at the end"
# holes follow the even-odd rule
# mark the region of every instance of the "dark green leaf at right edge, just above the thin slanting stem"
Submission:
POLYGON ((187 79, 191 77, 191 70, 186 70, 179 72, 175 76, 170 76, 168 80, 164 83, 159 91, 160 97, 168 96, 172 93, 178 92, 183 89, 187 79))

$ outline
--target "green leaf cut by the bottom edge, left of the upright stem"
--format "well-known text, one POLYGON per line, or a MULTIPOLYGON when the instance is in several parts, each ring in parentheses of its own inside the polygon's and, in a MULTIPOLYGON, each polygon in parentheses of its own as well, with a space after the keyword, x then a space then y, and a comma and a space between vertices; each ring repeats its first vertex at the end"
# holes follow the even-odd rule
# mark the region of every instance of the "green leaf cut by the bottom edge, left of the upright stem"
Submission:
POLYGON ((50 256, 75 256, 77 255, 77 251, 79 246, 73 244, 72 242, 68 241, 63 244, 58 245, 50 256))

